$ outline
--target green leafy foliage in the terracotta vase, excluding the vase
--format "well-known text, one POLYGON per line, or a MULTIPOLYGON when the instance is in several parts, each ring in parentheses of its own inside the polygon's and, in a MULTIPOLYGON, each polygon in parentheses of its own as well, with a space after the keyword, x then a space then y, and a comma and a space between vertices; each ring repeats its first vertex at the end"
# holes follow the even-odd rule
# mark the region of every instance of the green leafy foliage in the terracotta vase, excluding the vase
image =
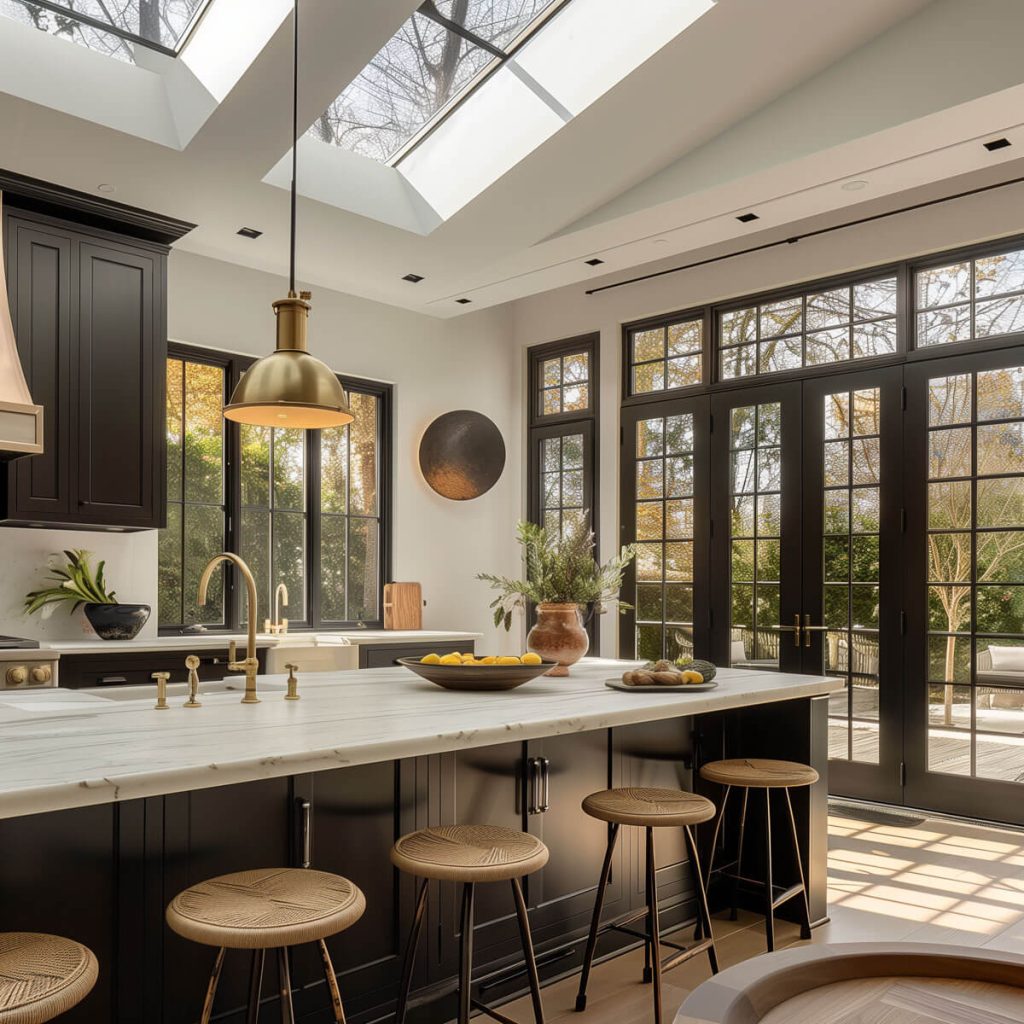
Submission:
POLYGON ((636 556, 636 546, 628 545, 604 565, 594 558, 594 534, 587 526, 586 515, 571 530, 559 536, 532 522, 516 526, 516 541, 522 548, 524 580, 480 572, 477 580, 490 584, 499 592, 490 602, 495 626, 512 628, 515 608, 532 604, 590 605, 603 611, 605 604, 618 603, 620 610, 630 607, 618 601, 623 573, 636 556))

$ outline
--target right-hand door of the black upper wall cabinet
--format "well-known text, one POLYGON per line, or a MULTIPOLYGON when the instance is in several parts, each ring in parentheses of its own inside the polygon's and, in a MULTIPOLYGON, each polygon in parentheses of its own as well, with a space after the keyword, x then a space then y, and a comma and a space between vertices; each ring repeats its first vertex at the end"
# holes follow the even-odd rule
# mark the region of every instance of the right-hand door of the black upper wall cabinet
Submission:
POLYGON ((158 330, 161 257, 83 242, 79 247, 78 517, 159 526, 157 457, 166 338, 158 330), (158 368, 160 373, 158 373, 158 368))

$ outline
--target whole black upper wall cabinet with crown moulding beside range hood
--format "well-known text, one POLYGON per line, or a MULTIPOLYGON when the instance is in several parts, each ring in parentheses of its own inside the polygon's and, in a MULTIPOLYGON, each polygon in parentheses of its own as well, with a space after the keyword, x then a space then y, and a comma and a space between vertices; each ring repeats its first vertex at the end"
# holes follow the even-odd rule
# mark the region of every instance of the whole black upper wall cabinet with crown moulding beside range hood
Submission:
POLYGON ((44 452, 0 467, 0 520, 162 526, 167 242, 190 225, 20 179, 7 188, 7 287, 44 452))

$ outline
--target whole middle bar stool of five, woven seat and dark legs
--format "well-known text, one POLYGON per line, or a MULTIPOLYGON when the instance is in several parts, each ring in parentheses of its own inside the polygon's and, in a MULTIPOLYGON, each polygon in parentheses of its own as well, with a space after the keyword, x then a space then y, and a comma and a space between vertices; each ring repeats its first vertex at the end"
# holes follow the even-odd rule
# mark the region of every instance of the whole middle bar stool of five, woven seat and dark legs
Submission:
POLYGON ((548 862, 548 848, 527 833, 498 825, 439 825, 402 836, 391 849, 391 862, 399 870, 421 879, 416 899, 416 915, 406 946, 401 988, 395 1024, 404 1024, 409 993, 413 985, 416 946, 427 909, 427 886, 431 879, 462 883, 462 929, 459 939, 459 1024, 468 1024, 471 1010, 479 1010, 503 1024, 510 1018, 472 997, 473 976, 473 894, 481 882, 511 882, 519 936, 526 962, 529 993, 536 1024, 544 1024, 541 979, 534 956, 534 940, 526 915, 526 901, 519 880, 548 862))

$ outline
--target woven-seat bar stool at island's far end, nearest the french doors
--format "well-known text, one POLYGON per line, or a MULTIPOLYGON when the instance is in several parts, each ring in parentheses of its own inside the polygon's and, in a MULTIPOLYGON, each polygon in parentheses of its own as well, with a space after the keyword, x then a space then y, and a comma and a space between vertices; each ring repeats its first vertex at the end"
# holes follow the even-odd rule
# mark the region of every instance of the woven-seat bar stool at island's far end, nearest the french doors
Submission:
POLYGON ((739 815, 739 837, 736 843, 735 871, 728 872, 725 867, 719 870, 732 881, 732 920, 736 920, 736 899, 740 885, 754 885, 764 890, 765 936, 768 942, 768 952, 775 948, 775 910, 798 896, 803 901, 804 920, 800 925, 800 937, 811 937, 811 910, 807 899, 807 882, 804 877, 804 864, 800 857, 800 840, 797 836, 797 820, 793 816, 793 800, 790 790, 795 786, 813 785, 818 780, 818 773, 810 765, 802 765, 796 761, 771 761, 762 758, 737 759, 734 761, 712 761, 700 769, 700 777, 709 782, 717 782, 725 786, 722 804, 715 819, 715 830, 711 842, 711 855, 708 863, 708 881, 711 883, 715 869, 715 852, 718 847, 719 833, 725 816, 725 808, 733 788, 743 791, 743 804, 739 815), (743 842, 746 838, 746 809, 750 803, 751 790, 763 790, 765 795, 765 877, 763 880, 743 878, 743 842), (793 837, 793 853, 797 861, 799 882, 784 888, 776 886, 772 874, 771 849, 771 792, 781 790, 785 797, 785 810, 790 817, 790 833, 793 837))

